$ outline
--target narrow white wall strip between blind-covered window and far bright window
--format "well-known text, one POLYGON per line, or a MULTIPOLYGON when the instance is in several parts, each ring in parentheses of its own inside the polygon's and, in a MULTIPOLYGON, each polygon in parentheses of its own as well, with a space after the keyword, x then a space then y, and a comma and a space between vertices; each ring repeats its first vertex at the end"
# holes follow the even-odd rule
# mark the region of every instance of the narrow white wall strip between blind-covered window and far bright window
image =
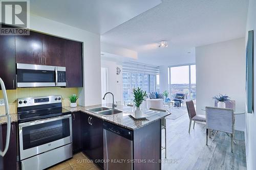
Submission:
POLYGON ((160 84, 160 93, 164 90, 168 90, 168 66, 160 65, 159 66, 159 84, 160 84))

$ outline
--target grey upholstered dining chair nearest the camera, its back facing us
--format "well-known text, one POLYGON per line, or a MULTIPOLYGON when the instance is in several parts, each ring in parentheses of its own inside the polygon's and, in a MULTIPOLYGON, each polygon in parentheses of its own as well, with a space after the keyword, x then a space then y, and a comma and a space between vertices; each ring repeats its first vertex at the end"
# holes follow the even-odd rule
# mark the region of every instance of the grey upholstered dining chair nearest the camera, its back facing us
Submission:
POLYGON ((230 134, 231 152, 233 152, 233 110, 216 107, 205 107, 206 109, 206 145, 208 145, 208 133, 210 130, 226 132, 230 134))

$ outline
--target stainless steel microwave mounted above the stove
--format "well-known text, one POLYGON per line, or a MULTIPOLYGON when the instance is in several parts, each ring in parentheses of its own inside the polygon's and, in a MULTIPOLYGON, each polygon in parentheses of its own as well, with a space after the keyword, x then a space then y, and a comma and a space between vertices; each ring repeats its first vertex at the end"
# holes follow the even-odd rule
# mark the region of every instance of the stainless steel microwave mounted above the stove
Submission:
POLYGON ((65 87, 66 67, 17 63, 17 87, 65 87))

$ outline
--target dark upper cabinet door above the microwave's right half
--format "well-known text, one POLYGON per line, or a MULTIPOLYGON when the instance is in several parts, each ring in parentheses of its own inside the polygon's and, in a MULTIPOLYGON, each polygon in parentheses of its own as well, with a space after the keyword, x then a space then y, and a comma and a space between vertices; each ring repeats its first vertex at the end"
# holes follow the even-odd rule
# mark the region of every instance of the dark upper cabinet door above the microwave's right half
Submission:
POLYGON ((44 35, 42 39, 42 54, 44 65, 65 66, 65 39, 44 35))

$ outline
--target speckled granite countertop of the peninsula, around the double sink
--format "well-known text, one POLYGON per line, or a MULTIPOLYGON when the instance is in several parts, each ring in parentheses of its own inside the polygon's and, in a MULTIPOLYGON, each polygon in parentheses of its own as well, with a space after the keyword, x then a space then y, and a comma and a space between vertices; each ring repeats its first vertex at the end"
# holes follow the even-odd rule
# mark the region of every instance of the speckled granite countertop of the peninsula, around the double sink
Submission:
POLYGON ((112 104, 100 104, 100 105, 93 105, 93 106, 79 106, 78 105, 76 108, 71 108, 71 107, 63 107, 63 108, 67 109, 71 112, 81 111, 83 113, 93 115, 102 120, 105 120, 107 122, 116 124, 118 126, 124 127, 126 129, 130 129, 130 130, 139 129, 139 128, 146 126, 148 124, 151 124, 167 115, 170 115, 170 113, 168 113, 168 112, 147 110, 147 111, 143 111, 144 114, 148 115, 148 117, 146 119, 135 119, 132 116, 130 116, 130 114, 133 113, 132 107, 118 105, 117 109, 124 111, 123 113, 112 115, 112 116, 102 116, 100 114, 88 111, 88 109, 95 108, 95 107, 112 107, 112 104))

